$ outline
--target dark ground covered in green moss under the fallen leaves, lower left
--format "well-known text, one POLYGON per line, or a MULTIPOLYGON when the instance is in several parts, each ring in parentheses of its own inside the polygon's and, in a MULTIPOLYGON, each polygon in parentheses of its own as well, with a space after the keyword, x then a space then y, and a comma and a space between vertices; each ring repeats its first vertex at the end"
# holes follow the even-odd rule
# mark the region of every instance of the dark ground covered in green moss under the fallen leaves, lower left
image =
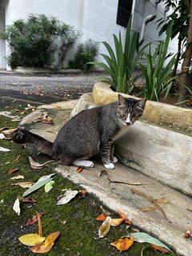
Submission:
MULTIPOLYGON (((22 106, 20 107, 22 110, 22 106)), ((10 118, 0 116, 0 127, 4 126, 14 128, 17 126, 17 122, 12 122, 10 118)), ((54 189, 49 194, 45 194, 44 188, 30 194, 30 197, 37 200, 37 202, 34 204, 22 203, 21 215, 18 216, 12 207, 16 198, 22 196, 25 190, 19 186, 12 186, 12 183, 18 181, 10 180, 10 178, 21 174, 25 177, 22 181, 36 182, 41 176, 53 173, 54 164, 50 163, 49 166, 44 167, 42 170, 33 170, 30 168, 29 153, 26 149, 10 140, 1 140, 0 143, 2 147, 10 149, 10 152, 0 153, 2 156, 2 161, 0 162, 0 255, 34 255, 27 246, 18 241, 18 237, 23 234, 38 233, 38 223, 32 226, 25 226, 28 218, 31 218, 35 211, 44 212, 42 216, 44 236, 55 231, 61 232, 54 247, 46 255, 113 256, 119 254, 114 246, 110 246, 110 242, 114 242, 121 236, 126 235, 126 226, 113 227, 106 238, 95 239, 98 236, 98 228, 101 225, 101 222, 95 221, 98 214, 102 213, 100 209, 101 202, 98 202, 91 194, 87 194, 86 198, 74 198, 65 206, 56 206, 58 197, 64 193, 62 190, 80 189, 74 183, 62 178, 60 174, 55 175, 54 189), (14 162, 20 154, 21 158, 14 162), (8 170, 11 168, 18 168, 19 171, 15 174, 8 174, 8 170)), ((106 207, 104 206, 104 208, 106 207)), ((113 214, 113 217, 115 218, 115 214, 113 214)), ((121 255, 140 256, 143 247, 146 247, 143 251, 143 256, 163 255, 161 252, 153 250, 150 245, 137 242, 134 242, 134 246, 129 251, 122 252, 121 255)), ((174 254, 170 255, 173 256, 174 254)))

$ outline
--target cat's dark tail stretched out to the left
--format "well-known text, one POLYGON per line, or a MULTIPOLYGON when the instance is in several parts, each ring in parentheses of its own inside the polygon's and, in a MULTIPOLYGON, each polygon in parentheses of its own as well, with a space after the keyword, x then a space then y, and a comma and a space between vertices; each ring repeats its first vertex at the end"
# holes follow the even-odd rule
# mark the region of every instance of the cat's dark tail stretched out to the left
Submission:
POLYGON ((52 142, 49 142, 45 138, 42 138, 37 134, 32 134, 30 131, 22 128, 18 128, 18 130, 15 131, 12 139, 16 143, 32 143, 37 146, 38 150, 48 155, 50 155, 50 151, 53 146, 52 142))

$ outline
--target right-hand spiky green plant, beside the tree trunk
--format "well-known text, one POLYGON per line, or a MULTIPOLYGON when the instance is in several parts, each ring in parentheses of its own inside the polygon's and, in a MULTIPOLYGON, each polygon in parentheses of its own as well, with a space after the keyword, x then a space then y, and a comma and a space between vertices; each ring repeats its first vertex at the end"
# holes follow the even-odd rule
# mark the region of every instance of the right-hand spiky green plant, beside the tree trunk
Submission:
POLYGON ((150 51, 149 54, 143 53, 146 66, 139 63, 146 78, 146 86, 142 91, 142 96, 153 101, 158 101, 162 95, 165 95, 166 98, 170 94, 170 88, 176 78, 176 76, 170 77, 176 61, 175 55, 166 63, 171 29, 172 26, 168 30, 166 40, 159 42, 153 55, 150 54, 150 51))

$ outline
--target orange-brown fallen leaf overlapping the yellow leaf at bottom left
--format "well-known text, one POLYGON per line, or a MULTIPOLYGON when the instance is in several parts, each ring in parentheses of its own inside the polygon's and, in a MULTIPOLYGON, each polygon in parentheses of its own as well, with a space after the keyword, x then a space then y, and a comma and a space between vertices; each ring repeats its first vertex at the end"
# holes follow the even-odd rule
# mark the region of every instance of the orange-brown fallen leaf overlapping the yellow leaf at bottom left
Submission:
POLYGON ((43 242, 41 245, 30 248, 30 250, 33 251, 35 254, 45 254, 49 252, 54 246, 54 241, 58 238, 59 234, 59 231, 49 234, 45 242, 43 242))

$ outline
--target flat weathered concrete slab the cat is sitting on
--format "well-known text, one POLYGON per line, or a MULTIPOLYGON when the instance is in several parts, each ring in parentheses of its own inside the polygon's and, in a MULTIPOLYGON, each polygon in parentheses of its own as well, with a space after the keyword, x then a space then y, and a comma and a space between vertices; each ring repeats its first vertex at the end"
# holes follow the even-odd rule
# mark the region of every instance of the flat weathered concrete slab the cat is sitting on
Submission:
MULTIPOLYGON (((58 102, 57 108, 55 104, 40 106, 39 110, 24 118, 21 124, 30 126, 33 133, 54 141, 58 130, 69 118, 71 107, 74 104, 75 101, 58 102), (58 106, 61 106, 61 109, 58 109, 58 106), (44 123, 33 122, 35 118, 41 116, 41 112, 45 111, 54 119, 55 125, 49 126, 49 129, 44 123)), ((159 238, 178 255, 190 256, 192 241, 190 238, 186 239, 183 234, 192 226, 192 198, 162 184, 157 178, 146 176, 122 163, 116 163, 115 170, 106 170, 101 175, 104 169, 100 158, 95 159, 94 168, 84 169, 79 174, 75 166, 70 166, 70 170, 69 166, 59 165, 55 168, 63 177, 85 187, 88 192, 94 194, 112 210, 122 210, 130 217, 134 226, 159 238), (125 182, 129 184, 124 184, 125 182), (142 185, 136 186, 135 183, 142 185), (133 194, 131 189, 139 190, 154 200, 166 199, 167 203, 159 203, 166 217, 160 210, 142 211, 142 208, 151 208, 154 205, 138 194, 133 194)))

